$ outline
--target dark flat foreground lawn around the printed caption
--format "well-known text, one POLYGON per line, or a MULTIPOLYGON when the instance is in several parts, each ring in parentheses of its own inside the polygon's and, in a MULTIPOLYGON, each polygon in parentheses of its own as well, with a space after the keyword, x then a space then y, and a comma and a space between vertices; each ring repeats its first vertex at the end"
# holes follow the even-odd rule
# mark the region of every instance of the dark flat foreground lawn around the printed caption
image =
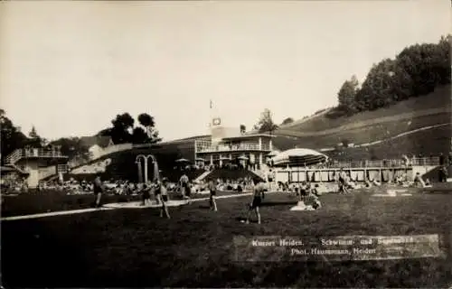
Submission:
POLYGON ((237 263, 232 238, 251 236, 451 236, 452 196, 375 198, 369 191, 321 197, 322 210, 290 211, 297 200, 271 193, 263 224, 240 223, 250 197, 158 210, 107 210, 2 222, 5 287, 444 287, 448 259, 237 263))

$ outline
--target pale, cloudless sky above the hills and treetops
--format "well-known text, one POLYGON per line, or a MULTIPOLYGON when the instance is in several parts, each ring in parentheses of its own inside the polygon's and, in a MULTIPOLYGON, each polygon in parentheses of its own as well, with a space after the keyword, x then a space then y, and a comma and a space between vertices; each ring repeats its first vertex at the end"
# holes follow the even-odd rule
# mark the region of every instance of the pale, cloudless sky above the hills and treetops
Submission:
POLYGON ((1 2, 0 107, 47 139, 124 112, 164 140, 337 104, 344 80, 450 33, 449 0, 1 2), (215 116, 216 116, 215 114, 215 116))

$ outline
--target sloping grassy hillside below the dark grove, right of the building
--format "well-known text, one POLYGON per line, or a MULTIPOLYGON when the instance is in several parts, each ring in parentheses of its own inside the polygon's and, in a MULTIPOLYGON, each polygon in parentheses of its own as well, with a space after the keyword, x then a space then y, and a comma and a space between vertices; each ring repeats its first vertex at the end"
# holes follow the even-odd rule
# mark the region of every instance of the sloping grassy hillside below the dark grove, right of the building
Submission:
MULTIPOLYGON (((419 98, 410 98, 391 107, 364 112, 353 117, 329 119, 325 115, 284 126, 275 132, 276 147, 282 150, 298 147, 313 149, 332 148, 343 140, 351 144, 381 144, 366 148, 350 148, 342 157, 384 158, 400 154, 446 153, 451 136, 451 96, 450 85, 436 89, 433 93, 419 98), (443 125, 441 127, 435 127, 443 125), (417 132, 419 128, 434 126, 430 130, 417 132), (396 135, 409 135, 392 139, 396 135), (410 140, 410 141, 407 141, 410 140), (402 153, 403 152, 403 153, 402 153), (354 156, 353 156, 354 155, 354 156)), ((339 154, 334 154, 336 157, 339 154)))

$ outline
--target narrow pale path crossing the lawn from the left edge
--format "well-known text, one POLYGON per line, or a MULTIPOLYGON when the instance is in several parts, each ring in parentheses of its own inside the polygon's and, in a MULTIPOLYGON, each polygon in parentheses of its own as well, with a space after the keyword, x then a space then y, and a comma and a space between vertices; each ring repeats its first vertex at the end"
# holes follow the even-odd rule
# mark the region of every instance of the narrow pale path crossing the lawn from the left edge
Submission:
MULTIPOLYGON (((276 191, 271 191, 268 193, 273 193, 276 191)), ((217 196, 217 200, 219 199, 228 199, 228 198, 239 198, 244 196, 250 196, 251 192, 244 192, 240 194, 233 194, 233 195, 226 195, 226 196, 217 196)), ((200 198, 200 199, 192 199, 192 202, 194 201, 205 201, 209 200, 209 197, 207 198, 200 198)), ((142 207, 142 209, 145 209, 147 207, 142 207)), ((48 213, 39 213, 39 214, 33 214, 33 215, 24 215, 24 216, 12 216, 12 217, 5 217, 1 218, 0 221, 5 220, 19 220, 19 219, 38 219, 38 218, 45 218, 45 217, 54 217, 54 216, 64 216, 64 215, 74 215, 74 214, 82 214, 82 213, 89 213, 93 211, 99 211, 99 210, 119 210, 119 209, 127 209, 127 208, 89 208, 89 209, 81 209, 81 210, 61 210, 61 211, 52 211, 48 213)), ((141 209, 141 208, 139 208, 141 209)))

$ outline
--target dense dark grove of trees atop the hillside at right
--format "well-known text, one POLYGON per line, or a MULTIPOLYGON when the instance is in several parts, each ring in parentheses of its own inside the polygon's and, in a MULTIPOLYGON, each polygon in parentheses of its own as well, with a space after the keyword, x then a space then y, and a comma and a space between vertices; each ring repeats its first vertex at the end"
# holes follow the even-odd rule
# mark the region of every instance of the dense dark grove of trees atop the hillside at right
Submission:
POLYGON ((388 107, 400 100, 426 95, 439 85, 449 84, 451 42, 452 36, 447 35, 438 43, 406 47, 395 60, 384 59, 374 64, 360 89, 355 78, 345 81, 338 92, 338 107, 328 112, 326 117, 388 107))

